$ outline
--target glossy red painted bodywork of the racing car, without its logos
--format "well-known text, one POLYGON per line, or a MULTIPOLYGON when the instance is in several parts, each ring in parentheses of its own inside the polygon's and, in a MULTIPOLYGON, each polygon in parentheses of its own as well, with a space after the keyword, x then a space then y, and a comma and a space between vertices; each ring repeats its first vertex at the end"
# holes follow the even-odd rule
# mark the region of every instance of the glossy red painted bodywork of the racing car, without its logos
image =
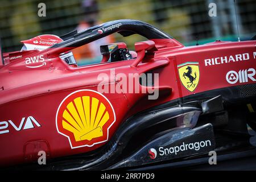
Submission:
MULTIPOLYGON (((158 100, 145 99, 147 93, 103 93, 113 105, 116 116, 116 121, 109 130, 109 139, 124 119, 138 111, 194 93, 253 83, 249 80, 244 83, 229 84, 225 77, 229 71, 256 69, 256 59, 253 57, 256 41, 216 42, 194 47, 183 47, 174 39, 153 41, 158 48, 155 56, 145 58, 135 68, 130 66, 134 60, 71 67, 58 56, 60 52, 72 48, 46 49, 41 52, 28 52, 28 55, 22 53, 22 58, 14 59, 11 63, 0 67, 0 88, 3 87, 0 91, 0 122, 11 120, 18 126, 23 117, 32 116, 41 125, 33 129, 16 131, 9 123, 7 128, 9 133, 0 134, 0 164, 26 162, 24 156, 30 154, 30 151, 24 151, 24 146, 33 141, 46 141, 51 158, 92 151, 106 144, 107 142, 104 142, 92 147, 72 149, 68 138, 57 132, 55 121, 57 109, 68 94, 80 89, 97 91, 97 85, 101 82, 97 80, 100 73, 109 75, 108 80, 104 82, 105 85, 117 87, 118 80, 115 80, 115 75, 118 73, 126 76, 129 73, 141 74, 148 71, 159 73, 158 100), (205 67, 205 59, 234 56, 240 53, 249 53, 250 59, 205 67), (46 65, 39 68, 25 67, 26 57, 38 55, 44 56, 46 65), (199 62, 200 69, 200 81, 194 92, 184 88, 177 72, 177 65, 191 61, 199 62), (111 71, 113 68, 115 73, 111 71)), ((5 53, 4 56, 8 59, 9 54, 5 53)), ((140 86, 139 89, 142 87, 140 86)))

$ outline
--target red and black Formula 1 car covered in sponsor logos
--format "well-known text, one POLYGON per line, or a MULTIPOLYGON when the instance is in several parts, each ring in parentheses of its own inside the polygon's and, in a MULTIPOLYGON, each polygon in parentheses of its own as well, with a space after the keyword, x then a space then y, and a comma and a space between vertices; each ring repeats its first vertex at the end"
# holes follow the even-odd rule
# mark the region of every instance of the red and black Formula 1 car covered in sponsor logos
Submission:
POLYGON ((185 47, 115 20, 23 43, 0 63, 4 168, 134 168, 253 148, 255 40, 185 47), (72 49, 115 32, 148 40, 102 45, 101 63, 77 66, 72 49))

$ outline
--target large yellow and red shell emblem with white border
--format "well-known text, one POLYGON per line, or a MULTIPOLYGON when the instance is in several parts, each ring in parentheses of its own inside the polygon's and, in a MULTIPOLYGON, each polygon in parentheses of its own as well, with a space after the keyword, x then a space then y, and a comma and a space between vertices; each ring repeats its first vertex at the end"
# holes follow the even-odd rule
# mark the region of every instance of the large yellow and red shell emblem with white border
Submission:
POLYGON ((56 113, 57 131, 68 138, 71 148, 106 142, 114 122, 115 112, 108 98, 88 89, 69 94, 56 113))

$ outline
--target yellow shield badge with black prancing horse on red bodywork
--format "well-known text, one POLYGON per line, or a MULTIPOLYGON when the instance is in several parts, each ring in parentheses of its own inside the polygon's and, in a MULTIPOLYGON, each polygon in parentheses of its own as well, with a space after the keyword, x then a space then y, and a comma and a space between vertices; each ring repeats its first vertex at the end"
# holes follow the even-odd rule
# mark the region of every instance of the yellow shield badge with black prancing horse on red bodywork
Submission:
POLYGON ((180 81, 190 92, 193 92, 199 83, 199 63, 187 62, 177 66, 180 81))

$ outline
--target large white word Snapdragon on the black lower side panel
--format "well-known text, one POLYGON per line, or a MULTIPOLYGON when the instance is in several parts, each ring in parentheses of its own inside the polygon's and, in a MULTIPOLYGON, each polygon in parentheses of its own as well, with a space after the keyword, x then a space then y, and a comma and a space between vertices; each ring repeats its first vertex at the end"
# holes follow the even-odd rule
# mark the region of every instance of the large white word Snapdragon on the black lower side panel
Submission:
POLYGON ((194 142, 194 143, 182 143, 180 146, 174 146, 170 148, 164 148, 164 147, 159 147, 159 155, 172 155, 175 154, 177 155, 180 151, 188 151, 188 150, 195 150, 199 151, 201 148, 212 146, 212 143, 210 140, 205 140, 201 142, 194 142))

